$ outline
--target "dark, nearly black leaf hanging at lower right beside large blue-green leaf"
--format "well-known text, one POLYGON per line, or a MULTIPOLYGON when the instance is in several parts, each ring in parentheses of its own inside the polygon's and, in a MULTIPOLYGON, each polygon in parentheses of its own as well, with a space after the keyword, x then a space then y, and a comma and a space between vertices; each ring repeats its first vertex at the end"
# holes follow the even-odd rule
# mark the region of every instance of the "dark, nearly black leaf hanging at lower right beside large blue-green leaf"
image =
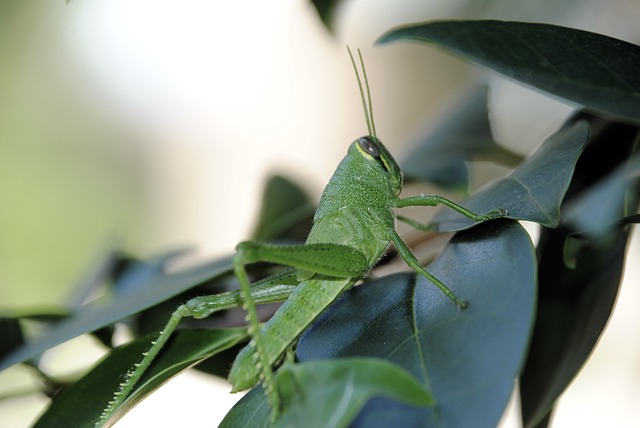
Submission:
POLYGON ((565 228, 540 237, 539 309, 520 381, 525 427, 535 426, 583 366, 613 309, 627 232, 582 242, 573 266, 563 260, 565 228))

